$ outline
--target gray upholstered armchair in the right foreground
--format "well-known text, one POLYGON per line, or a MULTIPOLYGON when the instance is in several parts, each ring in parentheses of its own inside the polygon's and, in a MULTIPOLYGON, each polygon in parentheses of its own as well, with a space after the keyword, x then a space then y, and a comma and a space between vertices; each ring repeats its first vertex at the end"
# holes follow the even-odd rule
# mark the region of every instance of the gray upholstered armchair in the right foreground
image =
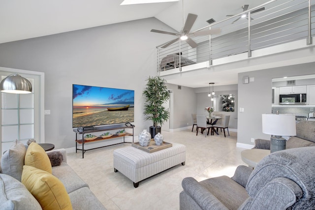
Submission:
POLYGON ((180 210, 315 209, 315 147, 271 153, 232 178, 185 178, 180 210))

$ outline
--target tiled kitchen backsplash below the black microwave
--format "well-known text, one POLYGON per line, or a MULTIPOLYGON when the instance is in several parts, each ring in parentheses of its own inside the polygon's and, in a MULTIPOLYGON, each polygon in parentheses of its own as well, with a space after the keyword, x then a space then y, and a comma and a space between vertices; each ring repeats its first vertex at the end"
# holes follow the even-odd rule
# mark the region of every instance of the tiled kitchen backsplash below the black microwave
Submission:
POLYGON ((315 106, 272 106, 272 113, 293 114, 299 116, 309 116, 310 112, 315 112, 315 106))

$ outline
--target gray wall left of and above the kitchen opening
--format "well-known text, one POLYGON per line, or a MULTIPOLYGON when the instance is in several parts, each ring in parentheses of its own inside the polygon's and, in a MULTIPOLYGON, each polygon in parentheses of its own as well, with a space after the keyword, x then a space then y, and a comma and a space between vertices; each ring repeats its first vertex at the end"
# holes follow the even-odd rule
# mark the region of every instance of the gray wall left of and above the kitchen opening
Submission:
POLYGON ((238 107, 244 108, 244 112, 238 110, 238 143, 253 145, 251 138, 270 139, 270 135, 262 133, 261 114, 271 113, 272 78, 313 74, 314 64, 304 63, 238 74, 238 107), (254 82, 243 84, 243 77, 253 77, 254 82))

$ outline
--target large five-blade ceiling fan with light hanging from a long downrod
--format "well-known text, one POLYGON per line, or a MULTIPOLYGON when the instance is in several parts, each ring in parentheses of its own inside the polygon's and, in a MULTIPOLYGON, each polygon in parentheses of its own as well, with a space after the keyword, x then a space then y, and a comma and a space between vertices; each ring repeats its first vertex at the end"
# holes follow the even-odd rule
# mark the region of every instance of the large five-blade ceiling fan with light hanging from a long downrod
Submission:
MULTIPOLYGON (((184 0, 183 0, 183 16, 184 16, 184 0)), ((180 39, 185 40, 190 45, 191 48, 196 48, 198 45, 196 42, 194 42, 191 39, 191 37, 206 36, 206 35, 217 34, 217 33, 221 32, 221 29, 211 29, 211 30, 200 30, 200 31, 195 31, 195 32, 190 33, 190 29, 191 29, 192 25, 194 24, 194 22, 196 21, 197 17, 198 17, 198 15, 189 13, 187 16, 185 25, 184 25, 184 27, 180 33, 173 33, 173 32, 168 32, 168 31, 163 31, 163 30, 155 30, 155 29, 152 29, 151 31, 157 32, 157 33, 164 33, 164 34, 170 34, 170 35, 178 36, 176 39, 173 39, 173 40, 167 42, 165 45, 161 46, 161 48, 166 48, 180 39)), ((184 18, 183 18, 183 20, 184 20, 184 18)))

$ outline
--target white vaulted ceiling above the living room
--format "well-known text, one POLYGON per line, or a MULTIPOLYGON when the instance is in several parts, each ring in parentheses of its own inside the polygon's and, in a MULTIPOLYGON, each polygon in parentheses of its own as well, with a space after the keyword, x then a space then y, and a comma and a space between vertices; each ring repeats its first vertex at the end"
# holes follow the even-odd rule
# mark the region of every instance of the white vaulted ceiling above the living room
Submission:
MULTIPOLYGON (((211 18, 221 21, 227 14, 239 14, 243 11, 241 6, 244 4, 253 8, 267 1, 185 0, 184 16, 186 20, 188 13, 198 15, 191 29, 193 31, 208 26, 206 21, 211 18)), ((122 2, 123 0, 0 0, 0 43, 149 17, 156 17, 177 31, 183 27, 182 0, 120 5, 122 2)), ((170 35, 171 39, 173 37, 170 35)), ((187 81, 190 85, 194 82, 200 82, 200 78, 197 81, 187 81)), ((185 83, 182 85, 185 86, 185 83)), ((237 74, 230 79, 230 84, 236 83, 237 74)))

